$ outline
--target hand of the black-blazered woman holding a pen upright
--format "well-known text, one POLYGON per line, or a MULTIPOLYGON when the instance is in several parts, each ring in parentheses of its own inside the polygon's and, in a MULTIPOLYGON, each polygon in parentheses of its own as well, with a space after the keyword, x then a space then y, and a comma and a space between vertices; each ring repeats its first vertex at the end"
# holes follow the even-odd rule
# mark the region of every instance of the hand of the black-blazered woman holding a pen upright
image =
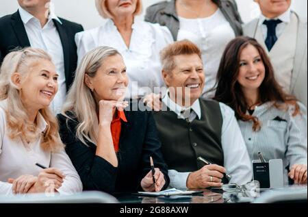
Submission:
POLYGON ((159 192, 164 187, 166 181, 164 179, 164 174, 159 168, 154 167, 153 158, 150 157, 151 170, 142 179, 141 187, 146 192, 159 192))

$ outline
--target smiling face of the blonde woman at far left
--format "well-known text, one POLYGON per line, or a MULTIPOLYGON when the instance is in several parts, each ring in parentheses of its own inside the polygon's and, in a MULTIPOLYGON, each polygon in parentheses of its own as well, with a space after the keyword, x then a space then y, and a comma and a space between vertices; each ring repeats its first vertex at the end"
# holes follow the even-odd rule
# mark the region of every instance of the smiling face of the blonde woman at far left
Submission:
POLYGON ((14 73, 13 80, 21 91, 21 100, 27 109, 48 107, 57 93, 57 73, 49 60, 30 60, 25 77, 14 73))

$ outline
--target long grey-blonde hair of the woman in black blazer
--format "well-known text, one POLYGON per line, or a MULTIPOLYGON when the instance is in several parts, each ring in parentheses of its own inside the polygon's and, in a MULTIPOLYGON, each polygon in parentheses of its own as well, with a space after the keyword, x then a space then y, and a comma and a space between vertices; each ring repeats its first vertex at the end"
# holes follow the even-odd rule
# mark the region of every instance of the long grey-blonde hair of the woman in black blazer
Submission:
POLYGON ((73 85, 66 97, 62 115, 68 119, 72 119, 66 114, 67 112, 71 112, 77 118, 76 137, 84 144, 86 144, 86 140, 97 144, 99 127, 97 104, 90 88, 86 86, 85 75, 95 77, 103 61, 114 55, 120 55, 120 53, 112 47, 97 47, 86 53, 77 67, 73 85))

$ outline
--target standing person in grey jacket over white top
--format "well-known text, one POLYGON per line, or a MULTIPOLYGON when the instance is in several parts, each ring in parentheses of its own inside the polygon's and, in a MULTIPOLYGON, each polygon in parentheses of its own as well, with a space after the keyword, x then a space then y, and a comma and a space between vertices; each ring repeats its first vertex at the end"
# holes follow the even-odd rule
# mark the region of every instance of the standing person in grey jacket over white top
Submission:
POLYGON ((235 36, 242 35, 242 19, 234 0, 171 0, 151 5, 145 21, 168 27, 173 39, 188 39, 203 55, 206 84, 203 96, 213 97, 220 58, 235 36))

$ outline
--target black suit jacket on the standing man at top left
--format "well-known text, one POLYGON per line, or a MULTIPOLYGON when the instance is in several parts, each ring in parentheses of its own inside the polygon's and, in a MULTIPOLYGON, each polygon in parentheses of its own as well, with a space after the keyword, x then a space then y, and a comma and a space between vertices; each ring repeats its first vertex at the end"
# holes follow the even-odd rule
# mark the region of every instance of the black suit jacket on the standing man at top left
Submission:
MULTIPOLYGON (((53 20, 53 23, 55 23, 62 42, 66 90, 68 90, 73 83, 73 75, 77 68, 75 34, 79 31, 84 31, 84 28, 63 18, 60 18, 60 21, 62 25, 55 20, 53 20)), ((30 47, 29 38, 18 11, 0 18, 0 63, 5 58, 5 55, 17 47, 30 47)))

